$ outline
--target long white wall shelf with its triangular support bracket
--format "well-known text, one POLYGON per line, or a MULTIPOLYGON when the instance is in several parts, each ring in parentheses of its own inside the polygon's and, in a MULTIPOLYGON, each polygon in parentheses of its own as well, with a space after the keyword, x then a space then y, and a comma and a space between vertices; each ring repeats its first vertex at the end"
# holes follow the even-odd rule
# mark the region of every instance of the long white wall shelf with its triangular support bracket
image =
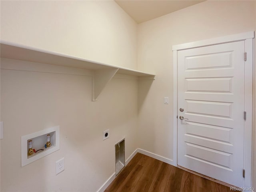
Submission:
POLYGON ((24 60, 44 64, 84 68, 94 71, 93 99, 96 100, 115 74, 126 74, 154 79, 155 74, 128 68, 111 66, 58 52, 1 41, 1 58, 24 60))

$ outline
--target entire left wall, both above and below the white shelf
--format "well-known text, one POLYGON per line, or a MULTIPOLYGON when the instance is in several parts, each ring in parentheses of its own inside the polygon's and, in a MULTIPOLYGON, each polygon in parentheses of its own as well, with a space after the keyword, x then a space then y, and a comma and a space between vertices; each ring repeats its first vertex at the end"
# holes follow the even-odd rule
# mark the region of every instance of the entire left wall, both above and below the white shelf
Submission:
MULTIPOLYGON (((0 3, 1 40, 137 68, 137 24, 114 1, 0 3)), ((114 144, 126 138, 126 158, 138 146, 138 80, 115 76, 92 102, 90 71, 6 69, 10 64, 31 63, 1 59, 1 191, 98 190, 115 172, 114 144), (56 125, 60 150, 21 167, 21 136, 56 125), (62 157, 65 170, 56 176, 62 157)))

